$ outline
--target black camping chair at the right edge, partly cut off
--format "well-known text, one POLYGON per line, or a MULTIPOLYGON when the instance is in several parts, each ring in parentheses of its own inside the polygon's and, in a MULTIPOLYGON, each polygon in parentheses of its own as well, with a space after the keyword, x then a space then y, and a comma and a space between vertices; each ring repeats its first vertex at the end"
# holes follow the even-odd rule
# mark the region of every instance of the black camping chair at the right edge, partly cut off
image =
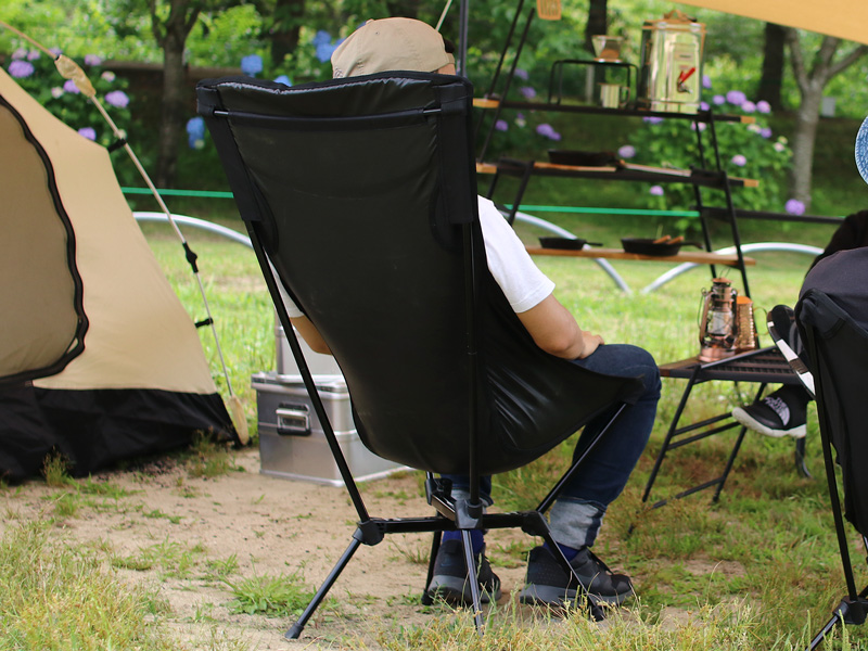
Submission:
MULTIPOLYGON (((770 322, 773 312, 779 312, 778 318, 774 319, 778 324, 777 330, 782 330, 780 324, 787 322, 787 310, 789 308, 778 306, 769 312, 770 322)), ((865 386, 868 383, 868 332, 834 301, 816 289, 807 290, 796 304, 795 322, 804 342, 808 370, 796 355, 791 356, 790 365, 817 401, 829 497, 847 586, 847 593, 835 608, 832 617, 810 641, 808 649, 813 650, 822 642, 835 624, 863 624, 868 613, 868 587, 856 591, 844 529, 846 518, 863 536, 863 542, 868 549, 868 476, 861 465, 868 458, 868 403, 865 400, 865 386), (842 470, 843 512, 838 495, 835 462, 842 470)), ((775 332, 774 328, 769 332, 776 342, 779 336, 783 336, 782 332, 775 332)))

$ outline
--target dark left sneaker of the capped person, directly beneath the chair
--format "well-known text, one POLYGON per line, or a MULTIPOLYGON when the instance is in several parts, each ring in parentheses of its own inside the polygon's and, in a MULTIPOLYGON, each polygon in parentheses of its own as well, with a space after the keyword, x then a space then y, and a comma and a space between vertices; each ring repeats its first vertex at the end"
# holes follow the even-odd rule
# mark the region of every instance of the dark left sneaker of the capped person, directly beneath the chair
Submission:
MULTIPOLYGON (((485 548, 476 554, 476 578, 480 580, 480 601, 488 603, 500 599, 500 579, 492 572, 485 558, 485 548)), ((434 575, 425 590, 432 599, 447 603, 471 605, 473 597, 468 583, 468 569, 464 563, 464 549, 461 540, 446 540, 434 560, 434 575)))

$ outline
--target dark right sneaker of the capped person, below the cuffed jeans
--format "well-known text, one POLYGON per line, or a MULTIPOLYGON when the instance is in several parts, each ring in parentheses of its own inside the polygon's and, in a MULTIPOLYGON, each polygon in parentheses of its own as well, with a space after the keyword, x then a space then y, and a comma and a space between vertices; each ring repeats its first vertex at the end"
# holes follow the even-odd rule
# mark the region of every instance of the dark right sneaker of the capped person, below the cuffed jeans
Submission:
MULTIPOLYGON (((570 564, 595 604, 616 605, 633 595, 630 577, 613 574, 587 547, 582 548, 570 564)), ((526 583, 519 593, 522 603, 560 608, 575 602, 577 593, 582 593, 575 577, 567 575, 545 547, 536 547, 527 556, 526 583)))

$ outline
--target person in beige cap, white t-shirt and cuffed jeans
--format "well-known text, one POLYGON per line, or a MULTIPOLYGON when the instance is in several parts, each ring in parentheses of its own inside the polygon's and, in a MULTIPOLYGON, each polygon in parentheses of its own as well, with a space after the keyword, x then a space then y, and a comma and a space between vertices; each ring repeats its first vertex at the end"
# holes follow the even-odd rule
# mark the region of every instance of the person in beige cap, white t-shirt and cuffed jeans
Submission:
MULTIPOLYGON (((332 66, 334 77, 388 71, 455 75, 450 52, 448 41, 425 23, 385 18, 369 21, 350 35, 333 53, 332 66)), ((554 297, 554 283, 536 267, 495 205, 478 197, 478 212, 488 268, 536 344, 551 355, 595 371, 642 378, 644 392, 641 398, 625 409, 608 437, 587 460, 586 470, 566 487, 550 513, 553 538, 576 569, 583 585, 599 601, 621 603, 633 592, 629 577, 612 573, 590 548, 607 507, 621 494, 651 434, 660 398, 656 363, 641 348, 604 345, 599 334, 582 330, 573 315, 554 297)), ((329 352, 303 312, 296 309, 290 311, 290 317, 314 350, 329 352)), ((580 400, 582 396, 577 395, 576 399, 580 400)), ((605 421, 591 422, 583 436, 592 436, 605 421)), ((469 497, 468 477, 449 478, 454 483, 455 497, 469 497)), ((484 477, 482 499, 486 506, 493 503, 490 489, 490 477, 484 477)), ((483 599, 497 600, 500 580, 485 558, 483 532, 473 531, 472 537, 483 599)), ((427 591, 431 596, 470 603, 467 576, 460 533, 446 532, 427 591)), ((561 604, 565 599, 574 599, 576 589, 573 577, 563 572, 549 549, 538 547, 531 551, 523 601, 561 604)))

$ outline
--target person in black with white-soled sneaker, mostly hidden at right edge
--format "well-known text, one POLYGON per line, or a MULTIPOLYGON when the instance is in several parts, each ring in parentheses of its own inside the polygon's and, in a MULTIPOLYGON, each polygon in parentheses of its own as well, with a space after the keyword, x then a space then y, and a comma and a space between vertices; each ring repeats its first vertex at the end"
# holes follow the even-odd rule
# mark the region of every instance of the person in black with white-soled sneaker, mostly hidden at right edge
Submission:
MULTIPOLYGON (((868 210, 854 213, 844 218, 843 224, 832 234, 824 252, 818 255, 808 269, 839 251, 868 246, 868 210)), ((793 348, 796 354, 799 349, 793 348)), ((774 436, 802 438, 807 433, 807 405, 810 396, 801 385, 784 384, 764 398, 745 407, 736 407, 732 418, 745 427, 774 436)))

